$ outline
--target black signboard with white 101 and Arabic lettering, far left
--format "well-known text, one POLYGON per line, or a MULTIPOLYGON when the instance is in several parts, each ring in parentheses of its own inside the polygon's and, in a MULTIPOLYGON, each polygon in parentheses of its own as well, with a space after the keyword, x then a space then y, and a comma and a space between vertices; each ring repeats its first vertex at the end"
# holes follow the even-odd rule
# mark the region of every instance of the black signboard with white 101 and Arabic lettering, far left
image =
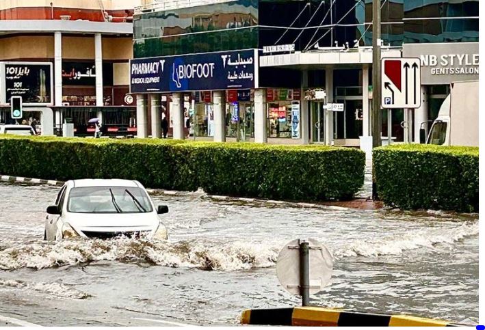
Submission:
POLYGON ((12 96, 21 96, 23 104, 52 103, 52 65, 17 62, 5 63, 5 102, 12 96))

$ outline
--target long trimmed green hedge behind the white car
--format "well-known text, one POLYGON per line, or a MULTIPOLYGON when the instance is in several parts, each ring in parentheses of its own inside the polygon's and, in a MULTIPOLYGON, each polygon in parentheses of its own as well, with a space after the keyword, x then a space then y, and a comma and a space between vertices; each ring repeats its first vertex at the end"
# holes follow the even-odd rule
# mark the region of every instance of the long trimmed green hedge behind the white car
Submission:
POLYGON ((162 139, 0 137, 0 174, 69 180, 127 178, 146 187, 281 200, 351 198, 365 154, 326 146, 162 139))

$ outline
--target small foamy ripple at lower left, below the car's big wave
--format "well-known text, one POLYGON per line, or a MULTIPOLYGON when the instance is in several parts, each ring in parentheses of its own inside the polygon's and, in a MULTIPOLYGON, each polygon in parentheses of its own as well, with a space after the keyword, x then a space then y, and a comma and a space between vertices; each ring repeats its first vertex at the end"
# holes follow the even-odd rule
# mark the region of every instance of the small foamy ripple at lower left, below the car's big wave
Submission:
POLYGON ((86 292, 70 288, 62 283, 44 283, 44 282, 32 282, 18 281, 15 279, 0 279, 0 288, 16 288, 20 290, 37 291, 46 294, 51 294, 55 297, 70 298, 70 299, 87 299, 92 297, 86 292))

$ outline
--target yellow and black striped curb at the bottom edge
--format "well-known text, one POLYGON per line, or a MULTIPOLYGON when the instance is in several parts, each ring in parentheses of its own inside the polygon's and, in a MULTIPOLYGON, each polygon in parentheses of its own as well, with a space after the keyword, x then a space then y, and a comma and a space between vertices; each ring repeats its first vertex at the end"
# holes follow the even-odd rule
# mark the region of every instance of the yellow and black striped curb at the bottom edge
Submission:
POLYGON ((408 315, 352 312, 324 307, 245 310, 244 325, 295 325, 303 327, 458 327, 451 322, 408 315))

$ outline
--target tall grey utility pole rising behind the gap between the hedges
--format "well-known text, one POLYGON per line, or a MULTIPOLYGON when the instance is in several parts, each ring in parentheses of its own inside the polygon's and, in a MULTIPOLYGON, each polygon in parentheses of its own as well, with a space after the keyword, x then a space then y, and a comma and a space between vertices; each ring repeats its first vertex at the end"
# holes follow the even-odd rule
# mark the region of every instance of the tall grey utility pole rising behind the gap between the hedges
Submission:
POLYGON ((380 0, 372 0, 372 147, 382 146, 380 109, 380 0))

